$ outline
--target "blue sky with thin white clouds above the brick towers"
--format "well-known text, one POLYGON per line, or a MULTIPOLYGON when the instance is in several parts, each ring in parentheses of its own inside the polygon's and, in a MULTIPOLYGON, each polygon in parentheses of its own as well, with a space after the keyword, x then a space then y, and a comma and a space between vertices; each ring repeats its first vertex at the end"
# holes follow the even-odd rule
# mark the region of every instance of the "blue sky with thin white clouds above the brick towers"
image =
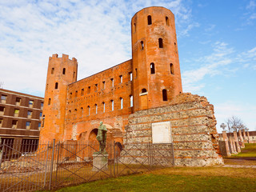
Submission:
POLYGON ((78 59, 78 79, 131 58, 130 19, 164 6, 176 19, 184 92, 206 96, 219 125, 256 130, 256 0, 0 0, 0 82, 44 95, 48 59, 78 59), (35 80, 36 79, 36 80, 35 80))

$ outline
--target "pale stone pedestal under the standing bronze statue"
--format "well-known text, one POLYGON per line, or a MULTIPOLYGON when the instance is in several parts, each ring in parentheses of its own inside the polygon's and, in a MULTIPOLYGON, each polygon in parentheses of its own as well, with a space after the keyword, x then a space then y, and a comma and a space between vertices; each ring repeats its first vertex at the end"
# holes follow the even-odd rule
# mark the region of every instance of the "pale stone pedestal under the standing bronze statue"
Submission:
POLYGON ((93 154, 92 171, 108 170, 109 154, 93 154))

